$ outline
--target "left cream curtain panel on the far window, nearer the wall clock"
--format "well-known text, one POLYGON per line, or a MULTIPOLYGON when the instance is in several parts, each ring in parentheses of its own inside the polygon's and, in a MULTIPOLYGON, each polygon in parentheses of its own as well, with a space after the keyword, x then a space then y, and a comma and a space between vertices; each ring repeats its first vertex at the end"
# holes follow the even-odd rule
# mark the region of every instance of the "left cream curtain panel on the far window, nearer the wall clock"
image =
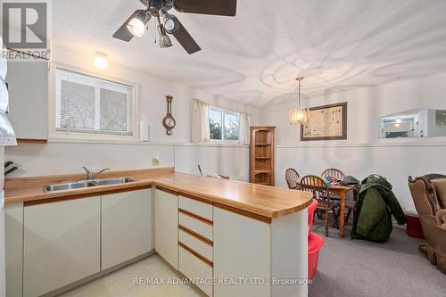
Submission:
POLYGON ((194 99, 192 106, 192 142, 208 143, 211 141, 209 129, 209 103, 194 99))

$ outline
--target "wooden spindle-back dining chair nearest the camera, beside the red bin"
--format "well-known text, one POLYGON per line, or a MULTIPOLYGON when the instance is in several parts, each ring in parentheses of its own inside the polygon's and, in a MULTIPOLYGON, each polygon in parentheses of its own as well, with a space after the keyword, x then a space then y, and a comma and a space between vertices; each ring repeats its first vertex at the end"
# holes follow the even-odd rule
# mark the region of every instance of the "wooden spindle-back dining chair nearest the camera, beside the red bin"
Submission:
POLYGON ((337 222, 337 211, 339 209, 339 202, 330 199, 330 189, 326 186, 326 182, 321 177, 305 176, 301 178, 301 183, 298 186, 301 191, 310 192, 313 194, 313 199, 318 201, 318 209, 324 217, 324 224, 326 227, 326 236, 328 236, 328 214, 333 213, 334 221, 337 222))

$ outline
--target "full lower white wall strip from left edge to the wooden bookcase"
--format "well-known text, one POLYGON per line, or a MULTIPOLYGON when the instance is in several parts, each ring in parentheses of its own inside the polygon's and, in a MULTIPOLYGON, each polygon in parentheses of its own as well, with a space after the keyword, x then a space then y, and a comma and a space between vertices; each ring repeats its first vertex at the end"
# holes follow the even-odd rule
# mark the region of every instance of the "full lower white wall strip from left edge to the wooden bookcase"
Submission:
POLYGON ((249 147, 216 144, 19 144, 6 147, 7 160, 19 169, 8 177, 84 173, 81 166, 98 171, 149 169, 152 158, 159 167, 175 167, 179 172, 199 175, 218 173, 236 180, 249 180, 249 147))

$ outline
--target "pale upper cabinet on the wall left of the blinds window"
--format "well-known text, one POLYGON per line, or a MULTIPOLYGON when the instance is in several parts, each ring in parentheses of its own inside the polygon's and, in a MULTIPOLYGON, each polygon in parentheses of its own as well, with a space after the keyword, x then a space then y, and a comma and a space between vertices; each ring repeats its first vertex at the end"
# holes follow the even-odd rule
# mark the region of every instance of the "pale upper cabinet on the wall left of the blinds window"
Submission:
POLYGON ((8 62, 8 118, 20 139, 48 137, 48 62, 8 62))

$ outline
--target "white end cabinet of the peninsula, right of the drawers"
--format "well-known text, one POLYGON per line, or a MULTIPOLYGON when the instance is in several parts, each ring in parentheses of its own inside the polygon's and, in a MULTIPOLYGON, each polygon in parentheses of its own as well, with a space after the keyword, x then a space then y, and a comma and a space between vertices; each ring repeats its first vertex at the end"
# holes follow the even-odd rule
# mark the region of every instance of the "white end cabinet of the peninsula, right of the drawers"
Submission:
POLYGON ((267 224, 214 207, 214 297, 308 296, 307 257, 306 209, 267 224))

